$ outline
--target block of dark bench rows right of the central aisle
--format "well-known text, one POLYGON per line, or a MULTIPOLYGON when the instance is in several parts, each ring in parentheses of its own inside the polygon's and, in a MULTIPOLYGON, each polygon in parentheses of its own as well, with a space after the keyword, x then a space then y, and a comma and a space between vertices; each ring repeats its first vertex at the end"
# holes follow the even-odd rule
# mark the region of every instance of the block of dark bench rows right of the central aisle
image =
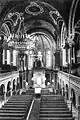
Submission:
POLYGON ((39 120, 74 120, 60 95, 42 95, 39 120))

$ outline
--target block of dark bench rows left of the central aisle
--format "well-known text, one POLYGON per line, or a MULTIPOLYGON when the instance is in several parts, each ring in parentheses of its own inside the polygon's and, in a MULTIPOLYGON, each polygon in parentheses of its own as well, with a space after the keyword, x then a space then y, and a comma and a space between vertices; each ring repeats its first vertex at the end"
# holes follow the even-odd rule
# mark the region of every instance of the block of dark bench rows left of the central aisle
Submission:
POLYGON ((31 102, 31 95, 13 96, 0 109, 0 120, 25 120, 31 102))

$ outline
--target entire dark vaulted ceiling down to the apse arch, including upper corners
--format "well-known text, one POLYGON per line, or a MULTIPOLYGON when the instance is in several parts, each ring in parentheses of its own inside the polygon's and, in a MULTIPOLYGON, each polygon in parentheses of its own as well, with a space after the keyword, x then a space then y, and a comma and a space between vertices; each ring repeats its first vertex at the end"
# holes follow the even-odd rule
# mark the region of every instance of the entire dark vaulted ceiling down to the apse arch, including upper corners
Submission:
MULTIPOLYGON (((73 0, 0 0, 0 20, 12 20, 15 24, 18 14, 14 13, 23 13, 26 33, 43 32, 56 40, 60 37, 63 22, 68 28, 72 2, 73 0)), ((80 19, 79 8, 80 3, 75 23, 80 19)), ((44 35, 39 38, 44 38, 44 35)))

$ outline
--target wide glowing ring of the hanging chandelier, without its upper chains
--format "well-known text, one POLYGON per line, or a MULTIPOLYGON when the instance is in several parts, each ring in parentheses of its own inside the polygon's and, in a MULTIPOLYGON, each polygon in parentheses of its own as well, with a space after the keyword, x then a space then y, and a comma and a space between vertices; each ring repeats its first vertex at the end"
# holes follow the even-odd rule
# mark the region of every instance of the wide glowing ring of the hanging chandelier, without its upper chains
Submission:
POLYGON ((30 39, 30 37, 13 37, 9 40, 8 47, 19 51, 31 50, 35 48, 35 40, 30 39))

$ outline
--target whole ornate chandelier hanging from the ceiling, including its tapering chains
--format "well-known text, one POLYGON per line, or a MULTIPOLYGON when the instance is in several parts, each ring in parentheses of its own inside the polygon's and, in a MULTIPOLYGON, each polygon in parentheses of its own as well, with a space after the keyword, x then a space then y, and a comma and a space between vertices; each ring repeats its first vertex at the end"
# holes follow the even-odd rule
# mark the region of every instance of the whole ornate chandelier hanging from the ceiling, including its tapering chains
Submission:
POLYGON ((8 48, 13 48, 15 50, 31 50, 35 49, 36 40, 32 39, 30 35, 26 33, 24 29, 24 17, 20 16, 20 23, 17 28, 17 32, 13 30, 8 38, 6 38, 8 48))

